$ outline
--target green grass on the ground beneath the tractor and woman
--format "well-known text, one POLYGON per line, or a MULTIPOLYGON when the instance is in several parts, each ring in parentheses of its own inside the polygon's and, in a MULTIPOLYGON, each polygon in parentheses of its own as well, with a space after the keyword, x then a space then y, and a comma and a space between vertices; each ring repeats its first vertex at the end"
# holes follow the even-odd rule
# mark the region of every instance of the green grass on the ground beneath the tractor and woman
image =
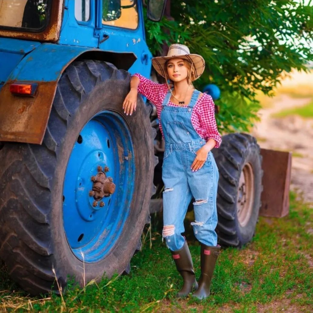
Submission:
MULTIPOLYGON (((192 220, 192 213, 188 214, 192 220)), ((218 258, 211 295, 203 301, 177 300, 181 285, 170 254, 162 244, 162 223, 153 218, 152 249, 146 242, 131 261, 131 274, 102 280, 80 289, 71 283, 62 298, 29 297, 8 277, 2 265, 1 310, 69 312, 267 312, 291 308, 310 312, 313 305, 313 209, 290 193, 290 213, 284 218, 259 218, 256 234, 243 249, 223 249, 218 258)), ((199 275, 200 246, 187 239, 199 275)))

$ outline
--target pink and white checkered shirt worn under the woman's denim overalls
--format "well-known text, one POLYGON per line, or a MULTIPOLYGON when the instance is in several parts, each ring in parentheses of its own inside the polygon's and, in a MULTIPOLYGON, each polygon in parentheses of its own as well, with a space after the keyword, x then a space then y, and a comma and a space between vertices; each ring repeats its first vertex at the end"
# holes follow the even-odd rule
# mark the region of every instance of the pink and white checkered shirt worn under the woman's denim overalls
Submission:
MULTIPOLYGON (((168 91, 167 84, 157 84, 137 73, 133 76, 137 76, 140 79, 138 92, 144 95, 156 106, 157 116, 160 121, 160 130, 163 136, 161 110, 163 100, 168 91)), ((168 105, 178 106, 171 101, 169 101, 168 105)), ((221 145, 222 137, 217 130, 214 115, 214 102, 210 95, 203 94, 200 98, 198 98, 192 110, 191 123, 195 131, 201 138, 205 139, 205 141, 213 138, 216 141, 215 148, 218 148, 221 145)))

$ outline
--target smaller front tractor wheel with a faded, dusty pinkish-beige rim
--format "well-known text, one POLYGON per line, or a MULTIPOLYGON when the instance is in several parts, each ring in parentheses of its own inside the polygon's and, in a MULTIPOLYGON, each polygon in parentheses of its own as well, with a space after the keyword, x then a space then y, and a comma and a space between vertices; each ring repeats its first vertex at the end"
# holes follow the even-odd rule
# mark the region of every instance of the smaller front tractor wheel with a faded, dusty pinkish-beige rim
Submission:
POLYGON ((219 170, 218 241, 241 247, 254 236, 261 206, 260 147, 253 136, 234 133, 223 136, 221 146, 212 152, 219 170))

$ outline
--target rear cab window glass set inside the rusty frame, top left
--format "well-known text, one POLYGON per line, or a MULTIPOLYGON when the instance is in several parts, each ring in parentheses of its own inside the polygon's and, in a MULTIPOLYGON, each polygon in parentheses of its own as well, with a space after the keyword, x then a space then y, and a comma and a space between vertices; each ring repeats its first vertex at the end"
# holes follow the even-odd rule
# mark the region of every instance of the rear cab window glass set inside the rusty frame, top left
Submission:
POLYGON ((0 27, 43 30, 52 0, 0 0, 0 27))

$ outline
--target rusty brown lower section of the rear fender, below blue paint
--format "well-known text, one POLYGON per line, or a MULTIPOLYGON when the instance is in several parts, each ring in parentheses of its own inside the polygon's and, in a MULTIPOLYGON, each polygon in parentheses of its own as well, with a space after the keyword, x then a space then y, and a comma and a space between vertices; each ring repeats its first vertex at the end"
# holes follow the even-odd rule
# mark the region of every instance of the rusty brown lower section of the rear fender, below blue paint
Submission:
POLYGON ((37 82, 35 98, 12 95, 11 83, 0 94, 0 141, 41 144, 58 82, 37 82))

